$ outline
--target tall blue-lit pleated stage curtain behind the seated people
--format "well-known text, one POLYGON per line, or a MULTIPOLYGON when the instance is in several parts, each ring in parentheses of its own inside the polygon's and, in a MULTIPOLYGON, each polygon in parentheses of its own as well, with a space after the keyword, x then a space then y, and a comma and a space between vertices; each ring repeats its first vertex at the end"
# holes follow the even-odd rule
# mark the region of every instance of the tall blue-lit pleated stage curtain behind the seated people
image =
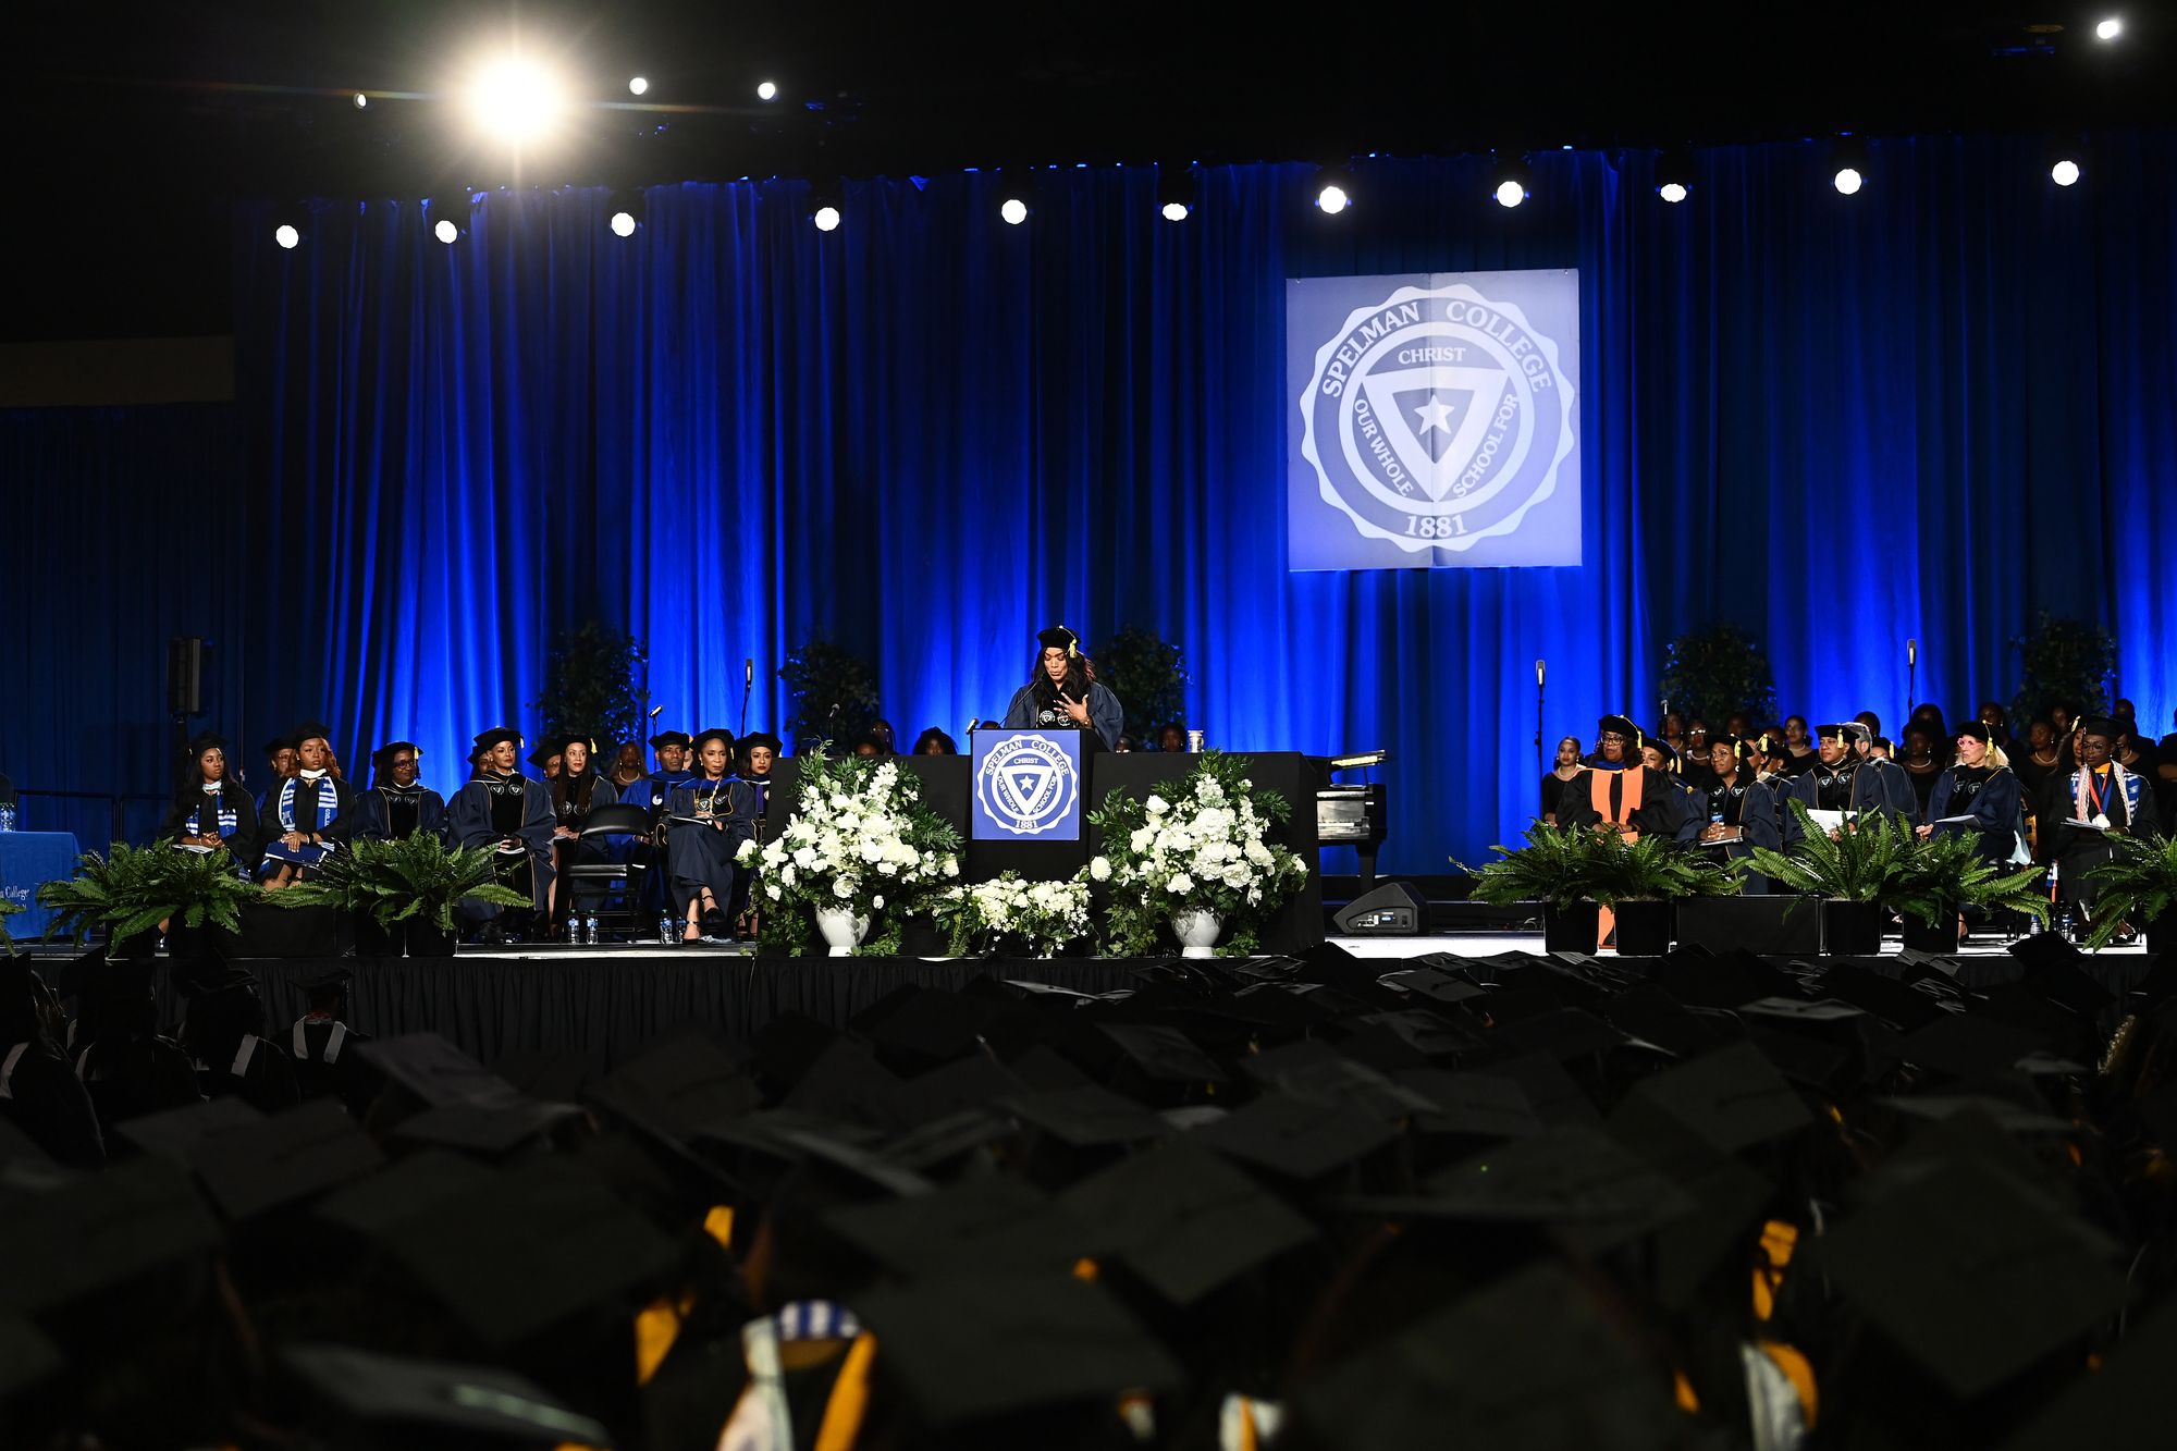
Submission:
POLYGON ((322 710, 350 773, 405 734, 451 789, 590 614, 675 726, 736 723, 745 658, 775 723, 827 634, 901 741, 958 736, 1036 627, 1143 623, 1210 743, 1391 747, 1385 865, 1437 871, 1535 808, 1537 658, 1548 749, 1652 721, 1663 641, 1715 619, 1785 710, 1890 726, 1907 636, 1955 712, 2009 695, 2033 610, 2107 619, 2164 719, 2170 137, 2101 137, 2070 190, 2025 139, 1877 142, 1857 198, 1813 144, 1698 168, 1672 207, 1644 157, 1548 153, 1504 211, 1478 159, 1378 159, 1343 218, 1311 168, 1208 168, 1184 224, 1149 170, 1065 168, 1025 227, 997 174, 880 179, 829 235, 801 183, 671 185, 625 242, 601 190, 492 192, 324 203, 294 253, 253 214, 231 512, 276 569, 213 586, 248 736, 322 710), (1287 573, 1284 277, 1522 266, 1581 270, 1587 562, 1287 573))

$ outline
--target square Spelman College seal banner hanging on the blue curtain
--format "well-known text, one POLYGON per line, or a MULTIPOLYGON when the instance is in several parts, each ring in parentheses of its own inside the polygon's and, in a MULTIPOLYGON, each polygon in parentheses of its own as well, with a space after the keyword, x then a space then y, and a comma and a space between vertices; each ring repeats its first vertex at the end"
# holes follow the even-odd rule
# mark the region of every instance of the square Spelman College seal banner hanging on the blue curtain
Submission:
POLYGON ((1581 275, 1284 283, 1293 569, 1581 562, 1581 275))

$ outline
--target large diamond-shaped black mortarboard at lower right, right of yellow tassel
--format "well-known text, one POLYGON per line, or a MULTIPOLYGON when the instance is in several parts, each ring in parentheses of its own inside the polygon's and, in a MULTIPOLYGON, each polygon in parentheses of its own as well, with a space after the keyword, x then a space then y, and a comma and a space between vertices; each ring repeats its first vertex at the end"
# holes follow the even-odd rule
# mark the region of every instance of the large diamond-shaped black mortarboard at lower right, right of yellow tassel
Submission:
POLYGON ((1992 1390, 2125 1305, 2116 1246, 1994 1166, 1953 1157, 1879 1179, 1811 1261, 1953 1397, 1992 1390))

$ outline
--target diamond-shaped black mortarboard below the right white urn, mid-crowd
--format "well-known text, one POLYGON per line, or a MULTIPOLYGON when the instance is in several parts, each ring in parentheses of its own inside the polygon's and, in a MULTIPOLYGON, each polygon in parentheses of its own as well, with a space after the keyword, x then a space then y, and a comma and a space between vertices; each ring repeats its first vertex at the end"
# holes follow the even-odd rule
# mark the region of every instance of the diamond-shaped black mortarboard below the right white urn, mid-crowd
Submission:
POLYGON ((1058 1203, 1156 1294, 1191 1305, 1315 1240, 1315 1224, 1217 1155, 1176 1139, 1082 1179, 1058 1203))

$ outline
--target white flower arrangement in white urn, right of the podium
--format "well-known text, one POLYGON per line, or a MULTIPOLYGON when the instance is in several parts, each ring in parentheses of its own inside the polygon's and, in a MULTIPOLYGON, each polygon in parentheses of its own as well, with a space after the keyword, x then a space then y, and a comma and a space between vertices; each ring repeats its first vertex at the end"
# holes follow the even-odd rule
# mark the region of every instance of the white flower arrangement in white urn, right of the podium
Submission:
POLYGON ((1291 802, 1256 791, 1221 752, 1204 752, 1169 802, 1112 791, 1088 817, 1104 832, 1088 880, 1110 891, 1106 948, 1141 956, 1176 913, 1213 911, 1223 917, 1219 950, 1252 952, 1260 922, 1308 880, 1308 863, 1269 839, 1291 815, 1291 802))

